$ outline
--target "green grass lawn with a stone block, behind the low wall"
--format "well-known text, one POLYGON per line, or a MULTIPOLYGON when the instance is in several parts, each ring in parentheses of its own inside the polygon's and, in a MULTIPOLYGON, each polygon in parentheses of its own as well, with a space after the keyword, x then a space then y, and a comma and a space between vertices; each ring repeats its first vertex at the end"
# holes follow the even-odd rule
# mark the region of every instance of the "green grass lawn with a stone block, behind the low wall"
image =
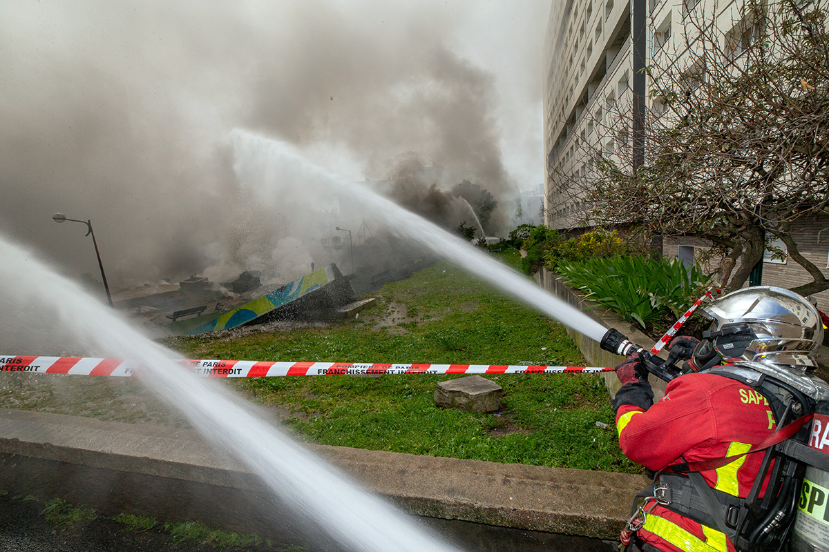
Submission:
MULTIPOLYGON (((515 266, 517 252, 499 255, 515 266)), ((296 362, 584 364, 565 329, 447 262, 372 294, 356 319, 322 327, 230 331, 167 344, 190 358, 296 362)), ((502 410, 434 406, 450 376, 324 376, 229 380, 271 406, 299 439, 320 444, 494 462, 637 472, 613 430, 600 377, 487 376, 502 410), (597 424, 599 422, 599 424, 597 424), (607 425, 607 427, 602 427, 607 425)))

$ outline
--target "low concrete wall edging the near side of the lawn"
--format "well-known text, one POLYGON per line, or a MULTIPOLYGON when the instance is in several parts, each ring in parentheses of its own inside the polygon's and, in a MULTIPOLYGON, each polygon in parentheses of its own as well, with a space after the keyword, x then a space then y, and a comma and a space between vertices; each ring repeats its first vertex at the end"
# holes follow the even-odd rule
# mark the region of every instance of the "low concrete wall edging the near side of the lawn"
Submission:
MULTIPOLYGON (((411 514, 594 539, 617 538, 632 497, 648 483, 623 473, 308 448, 411 514)), ((261 488, 189 430, 0 410, 7 492, 273 535, 286 505, 261 488)))

